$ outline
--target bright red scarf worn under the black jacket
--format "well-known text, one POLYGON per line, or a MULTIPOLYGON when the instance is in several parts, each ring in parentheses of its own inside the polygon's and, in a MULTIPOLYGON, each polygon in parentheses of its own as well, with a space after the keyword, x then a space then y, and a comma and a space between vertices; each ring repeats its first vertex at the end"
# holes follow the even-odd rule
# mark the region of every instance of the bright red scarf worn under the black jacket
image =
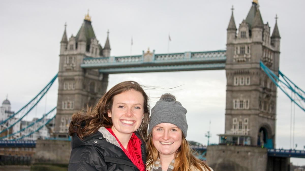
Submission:
MULTIPOLYGON (((117 136, 113 133, 111 128, 106 128, 106 129, 117 139, 117 136)), ((135 135, 135 133, 132 133, 131 138, 128 142, 127 145, 128 151, 123 147, 119 139, 117 139, 117 142, 119 142, 123 152, 127 155, 127 157, 131 160, 131 162, 135 166, 137 166, 137 168, 140 171, 145 171, 145 166, 143 164, 142 152, 141 152, 142 141, 135 135)))

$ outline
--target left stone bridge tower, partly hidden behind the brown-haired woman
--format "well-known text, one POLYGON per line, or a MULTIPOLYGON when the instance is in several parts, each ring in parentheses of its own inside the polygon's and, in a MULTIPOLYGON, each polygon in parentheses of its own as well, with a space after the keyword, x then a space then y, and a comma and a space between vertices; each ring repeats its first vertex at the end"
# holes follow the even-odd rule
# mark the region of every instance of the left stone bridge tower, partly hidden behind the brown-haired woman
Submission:
POLYGON ((83 69, 81 64, 84 58, 110 56, 108 36, 106 45, 102 48, 96 39, 89 12, 77 35, 72 35, 69 40, 65 25, 60 42, 55 137, 67 138, 72 114, 95 104, 105 94, 108 74, 100 74, 96 69, 83 69))

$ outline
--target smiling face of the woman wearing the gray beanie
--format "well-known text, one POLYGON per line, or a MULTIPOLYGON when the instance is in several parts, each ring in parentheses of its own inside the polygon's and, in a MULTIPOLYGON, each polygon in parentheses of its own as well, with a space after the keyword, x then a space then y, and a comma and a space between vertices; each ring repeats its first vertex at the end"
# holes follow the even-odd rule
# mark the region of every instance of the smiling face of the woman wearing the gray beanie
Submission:
POLYGON ((159 156, 173 157, 181 146, 182 131, 174 124, 161 123, 152 128, 152 143, 159 156))

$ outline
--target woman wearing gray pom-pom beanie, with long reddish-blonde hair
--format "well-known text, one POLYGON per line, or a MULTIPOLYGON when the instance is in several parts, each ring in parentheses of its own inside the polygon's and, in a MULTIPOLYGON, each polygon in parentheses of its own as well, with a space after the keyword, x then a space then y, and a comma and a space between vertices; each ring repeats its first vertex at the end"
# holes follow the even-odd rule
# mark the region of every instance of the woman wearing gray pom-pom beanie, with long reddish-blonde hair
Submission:
POLYGON ((213 171, 196 159, 185 139, 186 112, 170 93, 163 94, 152 108, 147 139, 149 171, 213 171))

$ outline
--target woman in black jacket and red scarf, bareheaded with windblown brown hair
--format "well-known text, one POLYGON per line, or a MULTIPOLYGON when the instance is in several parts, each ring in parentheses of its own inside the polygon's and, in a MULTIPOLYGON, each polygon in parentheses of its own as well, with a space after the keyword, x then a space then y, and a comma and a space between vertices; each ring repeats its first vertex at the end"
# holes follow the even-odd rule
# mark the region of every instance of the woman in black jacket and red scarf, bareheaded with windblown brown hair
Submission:
POLYGON ((145 171, 149 117, 137 82, 113 86, 92 109, 72 116, 69 170, 145 171))

